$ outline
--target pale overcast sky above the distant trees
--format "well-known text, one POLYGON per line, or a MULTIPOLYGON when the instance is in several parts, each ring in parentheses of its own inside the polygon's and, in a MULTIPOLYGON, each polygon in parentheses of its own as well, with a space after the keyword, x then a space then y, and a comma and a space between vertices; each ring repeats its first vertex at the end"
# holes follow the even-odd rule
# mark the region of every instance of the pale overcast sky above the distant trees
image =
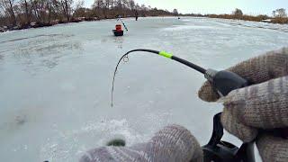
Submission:
MULTIPOLYGON (((94 0, 85 0, 91 6, 94 0)), ((272 14, 276 8, 288 9, 288 0, 135 0, 136 3, 151 5, 183 14, 230 14, 240 8, 244 14, 272 14)))

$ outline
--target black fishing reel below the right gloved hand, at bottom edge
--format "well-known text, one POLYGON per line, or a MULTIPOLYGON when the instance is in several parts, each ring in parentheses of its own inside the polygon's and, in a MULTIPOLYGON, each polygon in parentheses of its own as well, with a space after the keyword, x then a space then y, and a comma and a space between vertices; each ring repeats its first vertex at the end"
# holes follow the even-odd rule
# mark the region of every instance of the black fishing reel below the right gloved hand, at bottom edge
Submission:
POLYGON ((255 162, 254 144, 243 143, 240 148, 221 140, 223 126, 218 113, 213 118, 213 131, 210 141, 202 147, 204 162, 255 162))

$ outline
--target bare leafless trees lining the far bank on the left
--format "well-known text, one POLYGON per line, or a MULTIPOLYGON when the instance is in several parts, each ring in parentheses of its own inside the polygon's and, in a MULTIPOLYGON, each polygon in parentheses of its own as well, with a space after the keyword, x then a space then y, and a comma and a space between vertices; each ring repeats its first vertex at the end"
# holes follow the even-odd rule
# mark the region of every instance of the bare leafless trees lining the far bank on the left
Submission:
POLYGON ((134 0, 94 0, 90 8, 84 1, 75 0, 0 0, 0 27, 10 30, 29 28, 35 25, 92 21, 99 19, 135 16, 175 15, 167 10, 159 10, 136 4, 134 0), (80 18, 81 20, 80 20, 80 18))

